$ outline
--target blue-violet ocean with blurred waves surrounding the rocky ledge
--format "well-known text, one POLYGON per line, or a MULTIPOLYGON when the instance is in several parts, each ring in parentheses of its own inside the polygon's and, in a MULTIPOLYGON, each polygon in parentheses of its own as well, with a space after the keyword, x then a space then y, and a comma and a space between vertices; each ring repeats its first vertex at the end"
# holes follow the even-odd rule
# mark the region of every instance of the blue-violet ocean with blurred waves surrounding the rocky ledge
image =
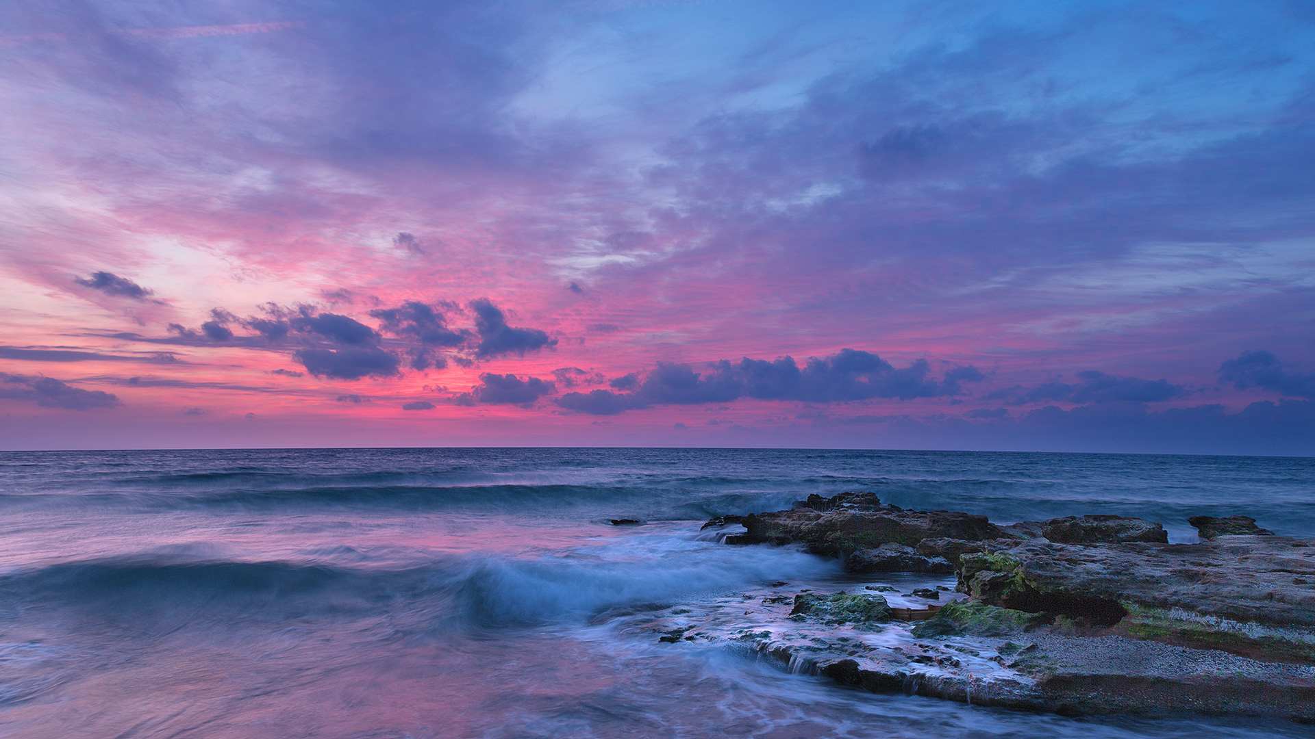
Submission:
MULTIPOLYGON (((719 514, 872 490, 1009 523, 1247 514, 1315 536, 1315 459, 819 450, 0 454, 0 736, 1310 736, 871 694, 636 619, 838 561, 719 514), (610 519, 643 523, 613 526, 610 519)), ((949 581, 952 585, 952 580, 949 581)))

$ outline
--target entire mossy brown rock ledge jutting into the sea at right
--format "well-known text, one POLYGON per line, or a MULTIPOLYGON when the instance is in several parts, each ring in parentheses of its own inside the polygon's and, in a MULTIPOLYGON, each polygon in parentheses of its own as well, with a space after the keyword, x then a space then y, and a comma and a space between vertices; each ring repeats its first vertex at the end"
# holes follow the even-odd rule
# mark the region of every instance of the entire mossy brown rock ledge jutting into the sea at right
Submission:
MULTIPOLYGON (((836 621, 813 605, 827 594, 807 593, 780 614, 797 634, 738 636, 792 669, 803 664, 876 692, 1072 715, 1198 711, 1315 723, 1315 540, 1274 535, 1241 515, 1189 521, 1202 540, 1170 544, 1161 523, 1140 518, 998 526, 853 492, 704 527, 740 523, 746 531, 726 543, 802 546, 843 559, 855 575, 956 577, 960 600, 917 623, 892 621, 884 608, 836 621)), ((830 597, 852 600, 843 590, 830 597)), ((764 608, 788 601, 763 598, 764 608)))

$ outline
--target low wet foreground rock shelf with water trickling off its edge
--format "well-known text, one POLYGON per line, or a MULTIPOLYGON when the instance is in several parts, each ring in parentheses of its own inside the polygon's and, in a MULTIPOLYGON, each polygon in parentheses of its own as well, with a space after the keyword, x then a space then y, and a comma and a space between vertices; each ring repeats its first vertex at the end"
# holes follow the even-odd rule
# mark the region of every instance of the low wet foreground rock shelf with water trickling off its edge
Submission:
MULTIPOLYGON (((1047 546, 1091 552, 1160 544, 1047 546)), ((1064 715, 1195 711, 1315 721, 1315 667, 1308 663, 1260 661, 1115 632, 1073 635, 1060 629, 1059 618, 1047 626, 1041 614, 981 602, 948 604, 917 625, 878 625, 842 621, 865 606, 880 614, 872 601, 847 593, 800 593, 793 608, 769 597, 751 614, 743 614, 743 598, 701 601, 694 613, 681 609, 679 621, 634 618, 661 642, 748 648, 792 673, 878 693, 1064 715)))

